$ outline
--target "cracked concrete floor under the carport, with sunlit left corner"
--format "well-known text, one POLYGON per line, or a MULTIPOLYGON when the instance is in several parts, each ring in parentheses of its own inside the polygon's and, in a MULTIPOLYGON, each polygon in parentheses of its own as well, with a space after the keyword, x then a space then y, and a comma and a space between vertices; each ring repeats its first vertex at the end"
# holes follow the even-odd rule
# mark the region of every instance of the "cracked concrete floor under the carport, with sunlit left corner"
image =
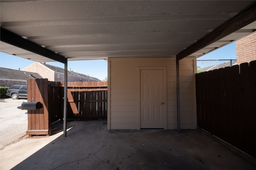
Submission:
POLYGON ((66 138, 56 128, 52 136, 4 148, 1 170, 256 169, 200 130, 109 131, 105 121, 74 121, 68 128, 66 138))

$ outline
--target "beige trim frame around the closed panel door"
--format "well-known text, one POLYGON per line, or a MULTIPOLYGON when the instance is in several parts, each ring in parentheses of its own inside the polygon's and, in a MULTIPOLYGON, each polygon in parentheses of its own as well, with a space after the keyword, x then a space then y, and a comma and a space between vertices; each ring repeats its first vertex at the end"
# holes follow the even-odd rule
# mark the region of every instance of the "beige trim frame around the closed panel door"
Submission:
POLYGON ((163 70, 163 97, 164 97, 164 130, 167 130, 167 83, 166 83, 166 67, 137 67, 138 77, 138 127, 140 130, 140 70, 163 70))

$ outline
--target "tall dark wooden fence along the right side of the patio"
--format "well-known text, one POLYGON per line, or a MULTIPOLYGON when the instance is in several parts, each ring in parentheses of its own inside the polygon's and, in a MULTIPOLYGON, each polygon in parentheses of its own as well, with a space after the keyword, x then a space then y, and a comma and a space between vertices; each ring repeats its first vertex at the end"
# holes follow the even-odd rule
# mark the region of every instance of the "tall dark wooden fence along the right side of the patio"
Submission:
POLYGON ((256 61, 196 74, 197 125, 256 158, 256 61))

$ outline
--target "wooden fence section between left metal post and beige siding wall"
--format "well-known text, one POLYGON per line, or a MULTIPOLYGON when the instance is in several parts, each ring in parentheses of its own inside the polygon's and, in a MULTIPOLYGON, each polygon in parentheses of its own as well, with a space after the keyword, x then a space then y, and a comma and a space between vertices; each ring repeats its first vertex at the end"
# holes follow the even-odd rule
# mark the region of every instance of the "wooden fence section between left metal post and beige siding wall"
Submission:
POLYGON ((106 118, 108 82, 68 82, 68 118, 106 118))

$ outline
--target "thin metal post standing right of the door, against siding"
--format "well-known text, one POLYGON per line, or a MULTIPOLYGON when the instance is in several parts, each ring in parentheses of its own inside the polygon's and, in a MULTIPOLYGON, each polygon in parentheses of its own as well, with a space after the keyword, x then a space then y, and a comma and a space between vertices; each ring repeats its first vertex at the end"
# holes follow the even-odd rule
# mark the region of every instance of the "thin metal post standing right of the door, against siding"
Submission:
POLYGON ((177 129, 180 133, 180 64, 179 60, 176 57, 176 89, 177 89, 177 129))

